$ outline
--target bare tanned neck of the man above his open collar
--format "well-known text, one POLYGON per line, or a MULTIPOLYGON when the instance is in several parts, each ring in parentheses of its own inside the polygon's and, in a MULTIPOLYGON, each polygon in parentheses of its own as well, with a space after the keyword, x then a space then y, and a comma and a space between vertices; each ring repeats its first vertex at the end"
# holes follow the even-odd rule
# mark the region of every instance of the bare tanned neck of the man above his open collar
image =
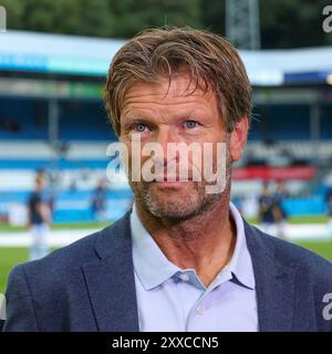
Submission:
POLYGON ((166 258, 181 269, 195 269, 207 287, 230 261, 236 225, 229 199, 186 220, 155 218, 137 205, 137 214, 166 258))

